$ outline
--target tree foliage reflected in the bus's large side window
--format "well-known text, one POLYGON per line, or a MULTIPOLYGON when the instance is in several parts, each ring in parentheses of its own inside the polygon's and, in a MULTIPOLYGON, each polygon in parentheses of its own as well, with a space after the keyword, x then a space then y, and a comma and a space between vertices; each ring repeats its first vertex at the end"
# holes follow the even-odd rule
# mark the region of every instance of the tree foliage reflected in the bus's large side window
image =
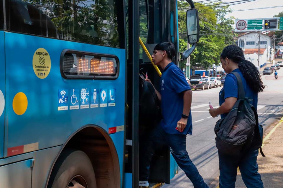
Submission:
MULTIPOLYGON (((46 15, 47 19, 51 20, 55 30, 55 36, 52 37, 119 47, 115 2, 110 3, 108 0, 23 1, 32 4, 41 11, 42 16, 46 15)), ((49 28, 47 31, 50 31, 49 28)), ((47 36, 50 36, 48 32, 47 36)))

